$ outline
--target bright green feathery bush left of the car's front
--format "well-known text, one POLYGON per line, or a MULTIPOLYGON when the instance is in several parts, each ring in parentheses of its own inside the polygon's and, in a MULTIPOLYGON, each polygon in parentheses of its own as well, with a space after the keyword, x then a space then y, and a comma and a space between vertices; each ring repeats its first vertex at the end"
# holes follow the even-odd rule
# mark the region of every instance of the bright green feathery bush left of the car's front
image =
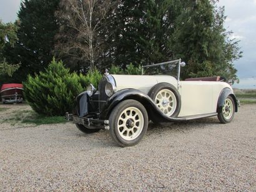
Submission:
POLYGON ((45 72, 32 77, 29 75, 24 82, 24 94, 32 109, 39 114, 56 116, 72 112, 76 97, 86 90, 89 82, 98 84, 101 75, 93 70, 86 76, 70 73, 62 62, 52 60, 45 72))

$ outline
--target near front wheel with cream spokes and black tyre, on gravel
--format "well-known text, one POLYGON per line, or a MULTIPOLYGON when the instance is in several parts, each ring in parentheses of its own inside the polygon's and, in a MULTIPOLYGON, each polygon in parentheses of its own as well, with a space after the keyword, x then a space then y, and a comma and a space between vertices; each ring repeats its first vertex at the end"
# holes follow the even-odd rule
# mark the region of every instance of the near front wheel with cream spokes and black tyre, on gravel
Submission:
POLYGON ((111 137, 120 146, 137 144, 147 131, 148 123, 147 110, 136 100, 124 100, 109 116, 111 137))

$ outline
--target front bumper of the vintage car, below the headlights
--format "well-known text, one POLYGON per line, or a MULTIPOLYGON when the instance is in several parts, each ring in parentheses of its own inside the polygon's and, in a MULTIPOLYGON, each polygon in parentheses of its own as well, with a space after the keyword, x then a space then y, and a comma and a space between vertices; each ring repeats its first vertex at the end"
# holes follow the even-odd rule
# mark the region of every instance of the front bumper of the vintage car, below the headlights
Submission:
POLYGON ((109 120, 99 120, 94 118, 88 118, 88 117, 79 117, 77 115, 72 115, 69 113, 66 113, 65 115, 66 120, 72 121, 73 123, 77 123, 80 125, 84 125, 84 127, 89 129, 103 129, 103 130, 109 130, 109 120))

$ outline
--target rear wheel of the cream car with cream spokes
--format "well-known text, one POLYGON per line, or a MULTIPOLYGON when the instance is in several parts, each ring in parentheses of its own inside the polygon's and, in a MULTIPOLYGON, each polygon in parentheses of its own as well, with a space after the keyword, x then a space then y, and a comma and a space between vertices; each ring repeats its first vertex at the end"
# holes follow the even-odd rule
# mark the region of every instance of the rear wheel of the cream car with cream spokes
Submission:
POLYGON ((235 115, 235 102, 234 99, 229 95, 222 107, 222 110, 218 113, 220 123, 229 123, 232 121, 235 115))

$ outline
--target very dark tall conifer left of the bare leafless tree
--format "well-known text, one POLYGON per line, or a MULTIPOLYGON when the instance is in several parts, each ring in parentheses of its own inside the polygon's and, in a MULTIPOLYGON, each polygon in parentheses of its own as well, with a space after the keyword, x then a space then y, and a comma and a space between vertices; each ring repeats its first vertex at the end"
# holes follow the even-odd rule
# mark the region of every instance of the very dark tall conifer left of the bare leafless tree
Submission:
POLYGON ((24 0, 18 12, 18 40, 14 47, 6 47, 6 61, 21 62, 12 79, 25 80, 27 74, 44 70, 51 62, 54 36, 58 31, 54 16, 59 0, 24 0))

